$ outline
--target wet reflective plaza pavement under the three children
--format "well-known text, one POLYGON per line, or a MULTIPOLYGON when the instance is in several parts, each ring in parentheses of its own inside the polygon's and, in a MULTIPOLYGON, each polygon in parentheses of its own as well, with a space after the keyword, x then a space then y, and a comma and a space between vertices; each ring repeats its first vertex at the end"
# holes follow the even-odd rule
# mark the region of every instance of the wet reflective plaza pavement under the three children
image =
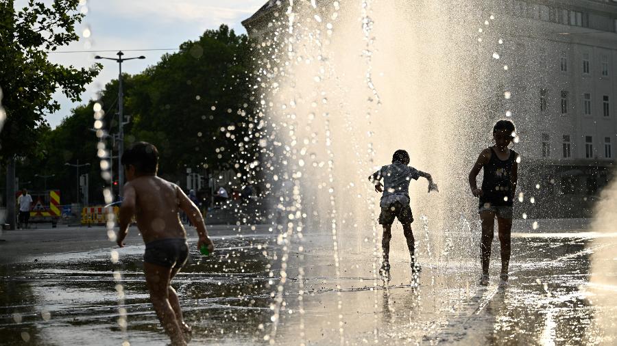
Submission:
MULTIPOLYGON (((191 259, 173 286, 193 325, 194 344, 617 343, 607 320, 596 319, 601 313, 617 323, 616 300, 590 299, 616 295, 617 288, 591 291, 589 285, 590 254, 617 248, 617 235, 588 232, 584 220, 544 220, 537 229, 532 224, 515 224, 507 285, 496 277, 495 241, 492 282, 479 286, 473 232, 452 232, 446 245, 431 252, 432 238, 415 230, 422 264, 415 284, 396 228, 399 250, 394 246, 390 280, 382 280, 372 239, 341 241, 335 252, 332 235, 304 230, 302 239, 288 243, 280 230, 265 225, 210 227, 217 250, 207 257, 197 252, 191 231, 191 259), (598 301, 603 303, 592 303, 598 301)), ((110 260, 113 247, 103 228, 5 231, 2 238, 1 343, 169 342, 149 304, 136 230, 128 247, 118 250, 117 263, 110 260), (126 311, 125 331, 120 309, 126 311)))

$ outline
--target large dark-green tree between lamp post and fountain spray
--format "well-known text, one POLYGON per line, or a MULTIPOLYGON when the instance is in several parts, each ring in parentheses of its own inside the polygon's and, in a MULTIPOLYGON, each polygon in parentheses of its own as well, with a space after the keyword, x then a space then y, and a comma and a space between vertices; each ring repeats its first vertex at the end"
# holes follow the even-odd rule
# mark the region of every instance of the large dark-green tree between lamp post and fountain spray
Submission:
POLYGON ((253 103, 250 71, 247 36, 226 25, 206 30, 125 80, 125 109, 133 117, 128 137, 162 149, 161 173, 170 177, 181 176, 185 167, 243 168, 243 122, 253 103))

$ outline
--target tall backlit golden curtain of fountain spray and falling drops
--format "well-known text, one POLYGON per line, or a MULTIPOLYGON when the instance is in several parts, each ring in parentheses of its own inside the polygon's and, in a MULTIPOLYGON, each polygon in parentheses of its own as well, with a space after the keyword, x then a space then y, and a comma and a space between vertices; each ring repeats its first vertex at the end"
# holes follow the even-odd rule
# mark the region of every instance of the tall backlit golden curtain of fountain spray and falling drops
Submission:
MULTIPOLYGON (((474 200, 461 198, 467 190, 461 177, 480 145, 489 142, 481 133, 509 111, 481 116, 501 78, 487 76, 503 72, 509 56, 498 40, 495 17, 478 12, 476 5, 289 1, 286 19, 272 21, 271 34, 254 46, 263 81, 258 112, 267 133, 262 155, 273 173, 266 177, 267 186, 276 191, 273 208, 289 215, 286 226, 278 227, 284 249, 293 247, 289 242, 299 232, 329 231, 335 310, 353 304, 340 291, 341 272, 351 265, 346 251, 370 252, 366 265, 372 268, 373 288, 380 282, 379 196, 372 194, 366 177, 389 163, 399 148, 408 150, 411 165, 431 172, 442 187, 439 194, 427 195, 424 181, 411 185, 412 209, 426 215, 416 235, 422 235, 420 261, 429 267, 477 264, 478 239, 467 221, 476 218, 476 207, 474 200), (484 28, 474 33, 479 24, 484 28), (461 241, 469 250, 453 252, 452 244, 461 241)), ((510 101, 513 95, 507 93, 510 101)), ((405 243, 394 239, 391 258, 408 261, 405 243)), ((287 253, 282 258, 289 261, 287 253)), ((285 267, 282 283, 292 276, 290 263, 285 267)), ((284 290, 280 284, 273 292, 278 298, 274 330, 267 338, 271 342, 284 290)), ((383 297, 374 293, 377 307, 383 297)), ((345 342, 343 322, 339 319, 340 343, 345 342)), ((374 335, 377 325, 376 319, 374 335)))

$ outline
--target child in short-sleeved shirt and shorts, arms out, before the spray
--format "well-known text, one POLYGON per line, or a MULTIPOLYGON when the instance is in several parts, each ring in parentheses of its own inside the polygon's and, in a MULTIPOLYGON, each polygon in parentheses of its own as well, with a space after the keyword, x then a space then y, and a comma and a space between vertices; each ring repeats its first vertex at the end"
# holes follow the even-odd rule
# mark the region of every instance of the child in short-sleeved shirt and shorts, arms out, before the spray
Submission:
POLYGON ((392 155, 392 164, 385 165, 377 172, 369 176, 369 180, 375 183, 375 191, 383 192, 379 206, 381 213, 379 215, 379 224, 383 226, 383 239, 381 246, 383 249, 383 265, 380 269, 380 274, 387 276, 390 271, 389 252, 390 239, 392 238, 391 228, 394 218, 403 226, 403 234, 407 239, 407 248, 411 256, 411 274, 415 276, 419 271, 419 267, 415 265, 415 243, 413 232, 411 232, 411 223, 413 215, 411 207, 409 207, 409 181, 411 179, 418 180, 423 176, 428 180, 428 192, 437 190, 437 185, 433 183, 431 174, 421 172, 413 167, 409 167, 409 154, 405 150, 396 150, 392 155), (381 185, 380 180, 383 178, 384 185, 381 185), (383 189, 382 189, 383 187, 383 189))

